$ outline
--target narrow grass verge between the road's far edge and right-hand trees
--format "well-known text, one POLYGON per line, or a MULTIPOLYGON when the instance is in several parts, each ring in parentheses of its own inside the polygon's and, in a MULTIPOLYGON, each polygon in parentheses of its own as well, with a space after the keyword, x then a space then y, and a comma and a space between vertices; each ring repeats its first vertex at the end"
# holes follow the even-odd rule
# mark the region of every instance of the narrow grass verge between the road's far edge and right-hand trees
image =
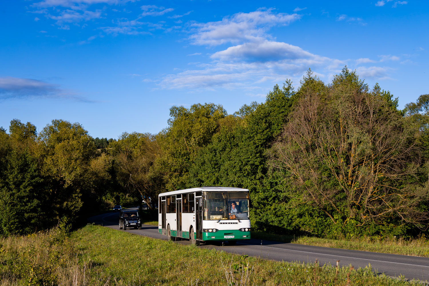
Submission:
POLYGON ((329 239, 308 236, 295 237, 293 235, 275 235, 265 232, 252 232, 251 235, 252 238, 296 244, 429 257, 429 240, 424 236, 411 240, 404 240, 402 238, 377 240, 373 238, 329 239))

